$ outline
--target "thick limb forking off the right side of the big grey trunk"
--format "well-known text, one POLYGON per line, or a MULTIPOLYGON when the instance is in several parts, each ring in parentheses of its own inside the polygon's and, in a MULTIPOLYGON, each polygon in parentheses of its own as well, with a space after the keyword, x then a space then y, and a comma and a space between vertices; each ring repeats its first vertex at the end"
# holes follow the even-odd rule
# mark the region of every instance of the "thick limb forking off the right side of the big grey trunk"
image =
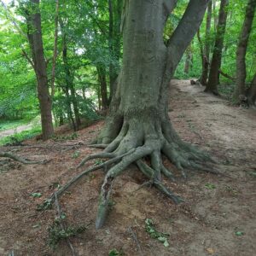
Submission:
POLYGON ((184 51, 194 38, 203 20, 209 0, 190 0, 189 5, 179 22, 176 30, 170 38, 167 48, 166 72, 173 74, 178 62, 181 60, 184 51))

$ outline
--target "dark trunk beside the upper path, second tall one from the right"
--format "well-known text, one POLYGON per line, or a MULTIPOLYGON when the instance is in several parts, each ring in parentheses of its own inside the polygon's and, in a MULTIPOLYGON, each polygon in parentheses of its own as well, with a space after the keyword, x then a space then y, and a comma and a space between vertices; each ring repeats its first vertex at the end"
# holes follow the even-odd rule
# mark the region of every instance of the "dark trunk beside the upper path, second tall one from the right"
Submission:
POLYGON ((229 5, 229 0, 221 0, 219 15, 218 15, 218 27, 217 34, 215 39, 215 45, 212 54, 212 62, 210 67, 209 79, 207 83, 206 90, 207 92, 212 92, 215 95, 218 95, 218 80, 219 72, 221 66, 222 58, 222 49, 224 46, 224 34, 227 20, 227 7, 229 5))

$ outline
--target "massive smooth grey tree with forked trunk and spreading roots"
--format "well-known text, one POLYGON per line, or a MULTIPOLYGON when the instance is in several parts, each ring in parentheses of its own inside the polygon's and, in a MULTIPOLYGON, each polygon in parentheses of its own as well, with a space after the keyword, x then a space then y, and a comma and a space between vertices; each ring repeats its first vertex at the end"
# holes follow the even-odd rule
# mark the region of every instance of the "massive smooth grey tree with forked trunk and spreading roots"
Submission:
POLYGON ((132 162, 137 163, 158 189, 179 202, 180 199, 160 182, 160 173, 172 176, 163 166, 160 154, 165 154, 181 172, 184 167, 201 168, 195 164, 195 159, 208 159, 207 154, 177 136, 168 116, 170 79, 201 24, 208 1, 189 2, 166 47, 163 29, 176 2, 126 0, 124 3, 123 67, 110 114, 97 139, 97 143, 108 144, 101 157, 116 156, 120 161, 110 168, 102 184, 96 228, 104 223, 114 177, 132 162), (147 155, 151 167, 142 160, 147 155))

